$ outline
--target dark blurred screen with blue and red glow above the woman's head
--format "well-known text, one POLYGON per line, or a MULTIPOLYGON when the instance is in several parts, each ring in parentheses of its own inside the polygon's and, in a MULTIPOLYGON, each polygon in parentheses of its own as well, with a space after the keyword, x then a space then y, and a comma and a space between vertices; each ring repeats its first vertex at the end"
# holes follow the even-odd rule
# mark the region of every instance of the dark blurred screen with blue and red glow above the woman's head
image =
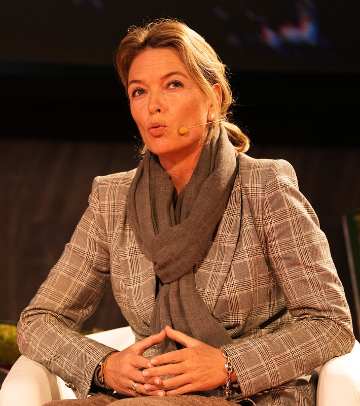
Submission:
POLYGON ((112 65, 130 25, 175 17, 231 70, 359 71, 354 0, 2 0, 0 62, 112 65))

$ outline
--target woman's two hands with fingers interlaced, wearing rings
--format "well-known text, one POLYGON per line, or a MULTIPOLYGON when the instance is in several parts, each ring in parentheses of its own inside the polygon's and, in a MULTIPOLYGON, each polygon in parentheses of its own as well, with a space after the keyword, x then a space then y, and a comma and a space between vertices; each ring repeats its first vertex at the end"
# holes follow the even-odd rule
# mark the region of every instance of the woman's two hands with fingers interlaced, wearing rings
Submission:
POLYGON ((112 354, 107 358, 105 370, 106 384, 130 396, 169 396, 210 390, 223 385, 226 377, 221 350, 170 327, 112 354), (185 348, 150 360, 142 357, 145 350, 161 343, 166 335, 185 348), (171 377, 162 379, 161 376, 171 377), (136 392, 131 387, 134 382, 136 392))

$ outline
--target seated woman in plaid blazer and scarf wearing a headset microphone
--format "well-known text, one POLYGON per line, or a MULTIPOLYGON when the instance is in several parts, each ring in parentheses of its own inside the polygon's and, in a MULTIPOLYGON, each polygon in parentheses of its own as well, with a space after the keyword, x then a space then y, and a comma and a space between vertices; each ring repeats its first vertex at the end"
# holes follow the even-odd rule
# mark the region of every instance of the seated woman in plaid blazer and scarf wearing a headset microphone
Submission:
POLYGON ((293 168, 244 154, 225 66, 185 24, 131 28, 116 62, 144 155, 94 180, 21 315, 22 353, 80 399, 106 394, 59 404, 314 405, 313 369, 354 337, 293 168), (77 332, 110 278, 137 340, 120 352, 77 332))

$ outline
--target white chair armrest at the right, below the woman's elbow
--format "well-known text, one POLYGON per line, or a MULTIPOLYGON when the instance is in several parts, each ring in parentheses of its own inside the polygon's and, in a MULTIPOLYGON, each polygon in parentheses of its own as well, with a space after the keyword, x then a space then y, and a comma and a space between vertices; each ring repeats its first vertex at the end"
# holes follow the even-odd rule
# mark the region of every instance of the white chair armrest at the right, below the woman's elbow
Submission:
POLYGON ((351 352, 335 357, 321 368, 317 390, 317 406, 360 405, 360 344, 351 352))

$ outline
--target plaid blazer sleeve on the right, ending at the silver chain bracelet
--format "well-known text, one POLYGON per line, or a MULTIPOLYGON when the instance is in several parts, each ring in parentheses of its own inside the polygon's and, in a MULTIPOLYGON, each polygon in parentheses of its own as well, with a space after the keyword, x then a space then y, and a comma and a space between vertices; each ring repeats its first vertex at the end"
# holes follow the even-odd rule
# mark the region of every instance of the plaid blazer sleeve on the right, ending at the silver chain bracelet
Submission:
POLYGON ((254 213, 260 213, 258 234, 269 272, 294 321, 278 331, 224 346, 242 396, 299 378, 350 352, 354 344, 349 308, 327 239, 298 190, 293 167, 283 160, 272 161, 260 178, 256 196, 251 197, 254 213))

